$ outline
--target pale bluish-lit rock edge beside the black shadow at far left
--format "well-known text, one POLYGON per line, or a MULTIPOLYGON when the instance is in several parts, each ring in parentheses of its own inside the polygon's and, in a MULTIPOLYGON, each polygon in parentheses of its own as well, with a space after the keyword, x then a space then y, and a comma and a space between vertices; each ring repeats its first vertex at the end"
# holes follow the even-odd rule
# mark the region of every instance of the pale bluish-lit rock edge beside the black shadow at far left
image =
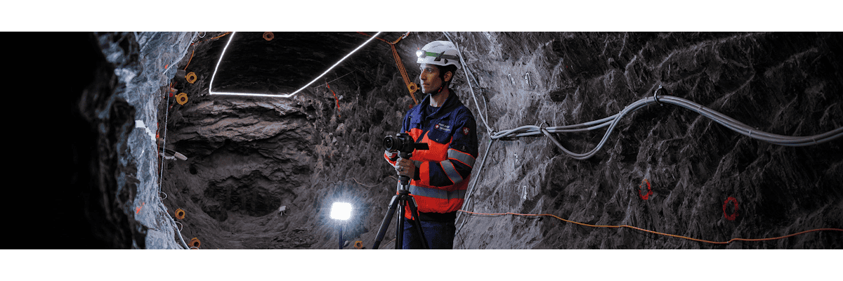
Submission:
MULTIPOLYGON (((164 100, 167 84, 176 71, 171 65, 185 56, 187 46, 195 36, 192 32, 97 34, 114 77, 111 81, 113 94, 101 92, 99 99, 106 99, 108 104, 119 103, 122 105, 117 107, 120 111, 111 111, 126 115, 121 123, 109 126, 119 128, 121 133, 112 143, 101 143, 100 148, 115 147, 121 151, 117 192, 128 192, 132 196, 121 197, 121 209, 114 212, 131 217, 136 232, 133 248, 186 248, 180 244, 168 210, 160 203, 163 196, 158 187, 160 170, 156 165, 155 132, 158 132, 157 105, 164 100)), ((93 95, 94 99, 98 96, 93 95)), ((90 101, 82 100, 81 106, 89 106, 87 102, 90 101)), ((89 108, 89 111, 104 118, 115 106, 104 106, 105 110, 89 108)))

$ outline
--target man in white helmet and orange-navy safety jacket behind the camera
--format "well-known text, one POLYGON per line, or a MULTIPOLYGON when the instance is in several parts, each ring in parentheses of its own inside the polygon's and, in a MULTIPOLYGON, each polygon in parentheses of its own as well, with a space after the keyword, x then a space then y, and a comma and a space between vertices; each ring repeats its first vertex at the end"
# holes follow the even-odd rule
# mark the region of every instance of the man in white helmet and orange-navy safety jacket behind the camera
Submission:
POLYGON ((421 92, 427 96, 404 116, 401 132, 430 149, 414 151, 411 159, 389 151, 384 157, 398 175, 411 178, 410 193, 418 204, 419 218, 412 218, 410 208, 405 208, 403 248, 421 248, 421 237, 410 220, 418 219, 431 249, 453 249, 454 221, 477 157, 475 117, 448 88, 460 68, 454 43, 432 41, 416 55, 421 92))

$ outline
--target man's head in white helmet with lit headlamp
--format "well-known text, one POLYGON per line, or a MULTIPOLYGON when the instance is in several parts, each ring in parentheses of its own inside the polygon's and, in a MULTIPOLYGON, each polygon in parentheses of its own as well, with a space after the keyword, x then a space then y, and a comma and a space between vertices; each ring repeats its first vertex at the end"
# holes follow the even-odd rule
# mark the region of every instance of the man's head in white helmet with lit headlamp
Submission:
POLYGON ((460 67, 459 52, 454 43, 432 41, 416 51, 421 74, 421 92, 436 95, 447 89, 460 67))

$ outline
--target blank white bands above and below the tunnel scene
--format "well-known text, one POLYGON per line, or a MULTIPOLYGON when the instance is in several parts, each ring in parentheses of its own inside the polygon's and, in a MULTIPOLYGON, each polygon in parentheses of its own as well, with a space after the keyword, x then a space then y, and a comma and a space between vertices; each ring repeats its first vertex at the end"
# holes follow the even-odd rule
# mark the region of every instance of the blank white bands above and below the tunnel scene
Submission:
MULTIPOLYGON (((32 1, 2 31, 840 31, 824 1, 32 1), (233 5, 236 4, 236 5, 233 5)), ((840 276, 840 250, 0 250, 19 279, 808 279, 840 276), (396 254, 400 256, 396 256, 396 254), (399 277, 400 276, 400 277, 399 277)))

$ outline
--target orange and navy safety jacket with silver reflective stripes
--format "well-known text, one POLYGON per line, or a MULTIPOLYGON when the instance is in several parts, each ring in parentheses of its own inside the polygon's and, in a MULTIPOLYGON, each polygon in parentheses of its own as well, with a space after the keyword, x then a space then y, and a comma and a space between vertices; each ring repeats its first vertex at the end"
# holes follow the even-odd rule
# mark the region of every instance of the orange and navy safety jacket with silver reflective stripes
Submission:
MULTIPOLYGON (((410 181, 410 193, 420 213, 452 213, 462 208, 469 186, 477 157, 477 127, 474 115, 453 91, 440 107, 430 106, 430 97, 408 111, 401 126, 416 143, 430 148, 413 152, 416 178, 410 181), (424 116, 426 111, 431 114, 424 116)), ((397 154, 386 151, 384 158, 395 165, 397 154)), ((409 208, 405 217, 412 219, 409 208)))

